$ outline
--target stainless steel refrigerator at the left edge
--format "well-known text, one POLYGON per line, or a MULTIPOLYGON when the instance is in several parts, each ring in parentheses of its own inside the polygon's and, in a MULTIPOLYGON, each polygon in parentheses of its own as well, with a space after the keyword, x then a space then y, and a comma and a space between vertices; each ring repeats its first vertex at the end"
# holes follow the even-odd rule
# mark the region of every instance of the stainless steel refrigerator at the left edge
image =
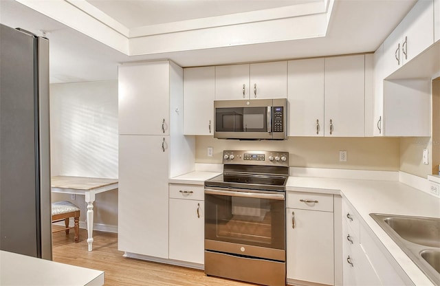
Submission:
POLYGON ((0 24, 0 249, 52 260, 49 41, 0 24))

